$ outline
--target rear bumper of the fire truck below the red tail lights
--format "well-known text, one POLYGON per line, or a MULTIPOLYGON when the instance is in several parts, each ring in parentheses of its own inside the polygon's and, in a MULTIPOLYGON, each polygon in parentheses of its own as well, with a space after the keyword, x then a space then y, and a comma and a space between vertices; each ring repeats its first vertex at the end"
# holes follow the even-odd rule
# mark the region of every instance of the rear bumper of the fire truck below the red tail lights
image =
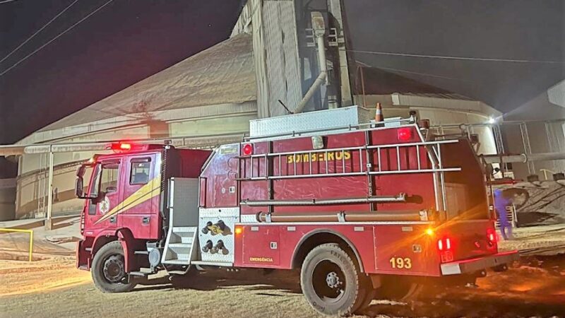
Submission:
POLYGON ((451 261, 441 264, 441 275, 458 275, 462 273, 474 273, 482 269, 509 264, 516 261, 519 255, 517 251, 492 254, 487 257, 476 259, 465 259, 464 261, 451 261))

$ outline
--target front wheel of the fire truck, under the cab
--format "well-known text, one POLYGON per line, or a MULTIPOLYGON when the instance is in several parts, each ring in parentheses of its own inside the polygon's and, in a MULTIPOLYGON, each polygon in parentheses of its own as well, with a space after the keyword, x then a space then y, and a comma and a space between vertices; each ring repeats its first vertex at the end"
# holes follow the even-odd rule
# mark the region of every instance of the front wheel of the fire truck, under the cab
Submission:
POLYGON ((136 287, 124 269, 124 249, 119 241, 103 245, 94 255, 90 269, 94 285, 103 293, 126 293, 136 287))

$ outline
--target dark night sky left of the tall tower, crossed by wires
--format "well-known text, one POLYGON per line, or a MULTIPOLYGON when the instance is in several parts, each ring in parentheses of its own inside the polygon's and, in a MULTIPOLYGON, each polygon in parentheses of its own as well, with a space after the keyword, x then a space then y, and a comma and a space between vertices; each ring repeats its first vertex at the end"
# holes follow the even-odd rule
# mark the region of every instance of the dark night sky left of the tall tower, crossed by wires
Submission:
MULTIPOLYGON (((0 57, 72 0, 0 4, 0 57)), ((107 0, 79 0, 0 73, 107 0)), ((4 76, 0 143, 13 143, 227 38, 240 0, 114 0, 4 76)))

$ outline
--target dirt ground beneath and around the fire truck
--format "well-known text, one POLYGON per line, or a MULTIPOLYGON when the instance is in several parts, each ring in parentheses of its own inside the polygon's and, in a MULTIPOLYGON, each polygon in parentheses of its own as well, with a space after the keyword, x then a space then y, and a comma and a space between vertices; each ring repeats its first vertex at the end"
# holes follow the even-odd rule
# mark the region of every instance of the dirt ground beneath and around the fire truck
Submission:
MULTIPOLYGON (((237 273, 236 273, 237 274, 237 273)), ((293 272, 198 276, 104 294, 73 257, 0 261, 0 317, 317 317, 293 272), (249 277, 254 277, 250 279, 249 277)), ((565 255, 523 258, 479 288, 424 290, 408 303, 374 301, 369 317, 565 317, 565 255)))

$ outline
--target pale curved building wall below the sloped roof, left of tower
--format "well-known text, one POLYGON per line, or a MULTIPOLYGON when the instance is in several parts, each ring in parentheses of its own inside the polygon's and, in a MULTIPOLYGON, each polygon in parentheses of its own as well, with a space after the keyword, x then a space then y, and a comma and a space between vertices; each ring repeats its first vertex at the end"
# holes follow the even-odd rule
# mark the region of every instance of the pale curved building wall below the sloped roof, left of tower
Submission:
MULTIPOLYGON (((59 139, 59 143, 116 141, 131 139, 178 138, 190 136, 186 143, 199 147, 225 143, 225 138, 209 137, 202 141, 200 137, 210 135, 243 136, 249 131, 249 120, 256 119, 255 105, 242 105, 239 114, 210 114, 194 119, 170 116, 167 121, 125 124, 119 128, 92 131, 78 136, 67 136, 59 139), (247 110, 252 109, 249 112, 247 110), (204 143, 202 143, 204 142, 204 143)), ((183 114, 187 112, 184 110, 183 114)), ((175 112, 172 112, 175 114, 175 112)), ((169 114, 170 115, 170 114, 169 114)), ((165 115, 163 115, 165 116, 165 115)), ((230 141, 233 142, 233 141, 230 141)), ((97 151, 103 154, 109 151, 97 151)), ((54 155, 54 195, 52 213, 54 216, 79 213, 83 200, 74 197, 76 169, 81 162, 92 158, 93 152, 56 153, 54 155)), ((17 178, 16 218, 43 217, 47 212, 47 154, 28 154, 19 158, 17 178)))

